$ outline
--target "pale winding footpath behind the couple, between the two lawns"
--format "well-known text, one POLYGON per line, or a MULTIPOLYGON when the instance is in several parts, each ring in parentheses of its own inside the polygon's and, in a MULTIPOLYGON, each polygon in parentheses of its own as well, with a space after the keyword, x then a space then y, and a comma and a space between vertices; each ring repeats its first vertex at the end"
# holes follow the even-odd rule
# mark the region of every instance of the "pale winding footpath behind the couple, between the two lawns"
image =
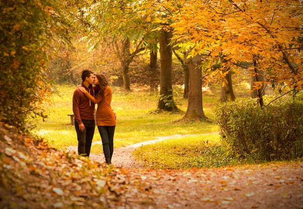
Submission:
MULTIPOLYGON (((218 133, 218 132, 211 132, 211 133, 218 133)), ((210 134, 210 133, 205 133, 205 134, 210 134)), ((136 148, 144 145, 150 145, 150 144, 155 144, 157 142, 161 142, 164 140, 170 140, 172 138, 182 138, 186 136, 191 136, 191 135, 196 135, 196 134, 176 134, 176 135, 169 135, 169 136, 158 136, 156 140, 150 140, 150 141, 145 141, 145 142, 140 142, 134 145, 129 145, 127 147, 121 147, 121 148, 116 148, 114 150, 114 155, 112 159, 112 163, 115 167, 121 167, 121 168, 142 168, 142 166, 136 162, 134 157, 132 156, 132 152, 136 150, 136 148)), ((102 141, 97 141, 93 142, 92 145, 102 145, 102 141)), ((70 146, 67 148, 67 151, 72 152, 75 151, 77 152, 77 146, 70 146)), ((89 156, 90 160, 97 161, 103 163, 105 161, 104 155, 103 154, 90 154, 89 156)))

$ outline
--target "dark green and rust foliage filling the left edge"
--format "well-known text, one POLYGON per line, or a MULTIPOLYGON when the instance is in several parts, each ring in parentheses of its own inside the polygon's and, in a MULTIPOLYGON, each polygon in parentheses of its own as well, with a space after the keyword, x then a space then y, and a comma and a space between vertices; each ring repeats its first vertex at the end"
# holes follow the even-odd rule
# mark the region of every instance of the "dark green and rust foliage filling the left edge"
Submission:
POLYGON ((53 89, 46 48, 60 30, 57 1, 0 2, 0 120, 27 128, 29 116, 46 117, 42 102, 53 89))

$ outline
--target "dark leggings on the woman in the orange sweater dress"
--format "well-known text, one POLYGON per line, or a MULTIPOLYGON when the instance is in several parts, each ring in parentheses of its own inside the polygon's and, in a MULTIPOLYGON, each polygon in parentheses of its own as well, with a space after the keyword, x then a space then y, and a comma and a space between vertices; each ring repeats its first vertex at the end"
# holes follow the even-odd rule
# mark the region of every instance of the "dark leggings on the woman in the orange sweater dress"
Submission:
POLYGON ((98 130, 102 139, 102 146, 104 157, 113 157, 114 153, 114 134, 115 134, 115 127, 114 126, 98 126, 98 130))

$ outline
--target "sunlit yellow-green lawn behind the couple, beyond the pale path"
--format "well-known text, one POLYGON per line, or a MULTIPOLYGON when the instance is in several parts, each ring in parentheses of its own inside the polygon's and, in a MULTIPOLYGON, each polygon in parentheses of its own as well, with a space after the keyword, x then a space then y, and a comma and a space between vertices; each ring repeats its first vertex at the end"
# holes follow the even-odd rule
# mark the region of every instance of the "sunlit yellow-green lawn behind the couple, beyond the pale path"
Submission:
MULTIPOLYGON (((49 117, 42 122, 41 119, 33 121, 36 128, 33 133, 45 138, 48 144, 57 149, 65 150, 68 146, 77 146, 76 131, 70 124, 68 114, 72 113, 72 96, 76 86, 56 86, 58 94, 54 95, 53 102, 45 106, 49 117)), ((151 113, 157 109, 158 94, 139 89, 125 92, 123 89, 113 87, 112 108, 117 113, 115 131, 115 148, 138 142, 155 139, 156 136, 174 134, 197 134, 214 132, 218 127, 214 121, 212 106, 218 100, 215 95, 204 95, 204 111, 210 120, 203 122, 182 123, 174 122, 184 115, 187 100, 182 98, 182 89, 175 87, 176 100, 181 112, 177 113, 151 113)), ((100 141, 97 128, 93 142, 100 141)), ((102 150, 95 145, 92 153, 102 150)))

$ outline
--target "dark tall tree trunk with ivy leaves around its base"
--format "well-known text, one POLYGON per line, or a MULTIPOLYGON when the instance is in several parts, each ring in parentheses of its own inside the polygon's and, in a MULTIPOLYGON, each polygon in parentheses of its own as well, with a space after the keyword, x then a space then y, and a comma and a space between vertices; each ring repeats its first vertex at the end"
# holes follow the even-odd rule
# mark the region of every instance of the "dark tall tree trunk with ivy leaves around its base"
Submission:
POLYGON ((166 32, 162 30, 159 36, 160 42, 160 60, 161 60, 161 76, 160 76, 160 99, 158 108, 160 110, 173 111, 177 109, 173 98, 172 87, 172 46, 168 45, 173 36, 172 31, 166 32))

